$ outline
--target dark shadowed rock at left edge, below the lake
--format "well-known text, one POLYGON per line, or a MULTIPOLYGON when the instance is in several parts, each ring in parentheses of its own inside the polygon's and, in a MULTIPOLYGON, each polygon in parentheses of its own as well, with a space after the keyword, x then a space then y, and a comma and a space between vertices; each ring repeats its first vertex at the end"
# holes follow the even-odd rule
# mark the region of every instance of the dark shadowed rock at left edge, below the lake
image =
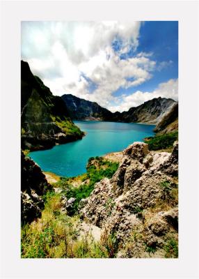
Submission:
POLYGON ((21 221, 31 223, 41 216, 44 208, 42 196, 47 190, 51 190, 51 185, 47 183, 40 167, 33 160, 26 158, 24 153, 21 156, 21 165, 21 221))

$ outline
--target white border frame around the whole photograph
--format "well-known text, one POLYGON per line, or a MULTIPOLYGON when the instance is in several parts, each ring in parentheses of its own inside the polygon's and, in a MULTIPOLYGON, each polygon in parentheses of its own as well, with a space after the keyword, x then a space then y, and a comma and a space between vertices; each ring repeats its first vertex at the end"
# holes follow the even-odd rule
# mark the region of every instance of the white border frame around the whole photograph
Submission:
POLYGON ((197 278, 198 1, 1 1, 2 278, 197 278), (178 20, 179 259, 20 258, 20 23, 22 20, 178 20))

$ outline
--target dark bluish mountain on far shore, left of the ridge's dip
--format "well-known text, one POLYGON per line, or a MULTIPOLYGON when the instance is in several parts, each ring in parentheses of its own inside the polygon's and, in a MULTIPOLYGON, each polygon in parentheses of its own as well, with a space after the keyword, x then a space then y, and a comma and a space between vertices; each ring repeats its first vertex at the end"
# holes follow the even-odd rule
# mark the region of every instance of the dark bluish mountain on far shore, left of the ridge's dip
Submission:
POLYGON ((72 119, 76 120, 109 120, 112 113, 95 102, 77 98, 72 94, 61 96, 67 105, 67 110, 72 119))

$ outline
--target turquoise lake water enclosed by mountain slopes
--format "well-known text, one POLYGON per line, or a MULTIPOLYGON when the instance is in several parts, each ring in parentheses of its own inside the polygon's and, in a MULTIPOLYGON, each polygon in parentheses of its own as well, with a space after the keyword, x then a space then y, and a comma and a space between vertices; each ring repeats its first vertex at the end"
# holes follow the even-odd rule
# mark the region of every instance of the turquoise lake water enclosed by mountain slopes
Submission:
POLYGON ((86 172, 90 157, 122 151, 133 142, 154 135, 154 125, 99 121, 74 121, 86 132, 82 140, 54 146, 53 149, 34 151, 30 157, 45 172, 60 176, 77 176, 86 172))

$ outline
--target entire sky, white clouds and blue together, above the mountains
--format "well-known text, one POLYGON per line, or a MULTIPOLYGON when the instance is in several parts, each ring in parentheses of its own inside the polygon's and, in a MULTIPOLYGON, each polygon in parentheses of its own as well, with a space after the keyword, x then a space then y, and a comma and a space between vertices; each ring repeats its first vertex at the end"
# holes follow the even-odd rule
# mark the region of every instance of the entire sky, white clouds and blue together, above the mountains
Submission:
POLYGON ((178 22, 22 22, 22 59, 55 95, 111 111, 177 100, 178 22))

